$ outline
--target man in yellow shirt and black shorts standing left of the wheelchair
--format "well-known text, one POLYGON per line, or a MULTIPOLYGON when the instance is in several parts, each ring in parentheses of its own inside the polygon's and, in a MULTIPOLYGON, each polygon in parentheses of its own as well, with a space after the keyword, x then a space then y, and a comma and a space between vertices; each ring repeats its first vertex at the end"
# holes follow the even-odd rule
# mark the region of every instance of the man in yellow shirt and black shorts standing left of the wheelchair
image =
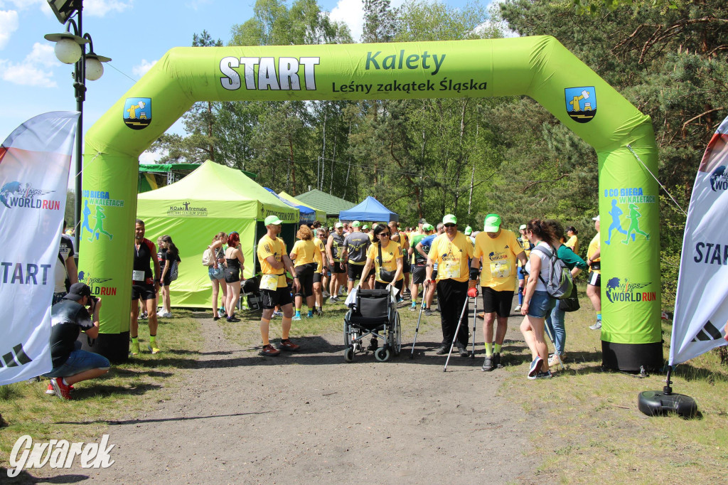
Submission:
MULTIPOLYGON (((288 334, 290 332, 290 323, 293 320, 293 304, 290 299, 290 291, 288 284, 285 282, 285 271, 288 269, 291 275, 296 275, 296 269, 293 268, 293 262, 290 261, 288 253, 285 251, 285 242, 283 242, 278 234, 280 234, 282 221, 278 216, 268 216, 265 219, 266 235, 258 241, 258 262, 261 264, 261 297, 263 299, 263 315, 261 317, 261 337, 263 339, 263 349, 261 355, 274 356, 280 354, 280 350, 294 352, 300 346, 290 342, 288 334), (280 306, 283 312, 283 320, 281 323, 282 335, 278 349, 270 344, 269 327, 273 316, 273 309, 276 305, 280 306)), ((301 285, 298 283, 298 277, 293 277, 293 290, 299 291, 301 285)))

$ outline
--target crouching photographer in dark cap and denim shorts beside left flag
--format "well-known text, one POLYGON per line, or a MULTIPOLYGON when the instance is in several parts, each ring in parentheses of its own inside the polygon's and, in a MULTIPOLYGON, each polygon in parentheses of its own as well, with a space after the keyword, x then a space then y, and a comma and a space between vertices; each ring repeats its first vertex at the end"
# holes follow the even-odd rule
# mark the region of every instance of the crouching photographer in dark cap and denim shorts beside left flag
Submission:
POLYGON ((47 394, 71 399, 76 382, 94 379, 108 372, 108 359, 103 355, 81 350, 81 331, 95 339, 98 336, 98 315, 101 299, 91 295, 84 283, 74 283, 63 300, 53 305, 51 315, 50 355, 53 368, 47 394), (51 392, 52 391, 52 392, 51 392))

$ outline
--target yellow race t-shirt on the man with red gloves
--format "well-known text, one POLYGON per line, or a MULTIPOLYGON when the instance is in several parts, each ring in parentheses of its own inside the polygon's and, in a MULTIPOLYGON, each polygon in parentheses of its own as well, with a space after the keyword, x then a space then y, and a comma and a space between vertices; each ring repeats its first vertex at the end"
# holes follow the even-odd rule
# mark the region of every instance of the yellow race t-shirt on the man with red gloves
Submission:
POLYGON ((480 264, 480 286, 495 291, 515 291, 518 275, 516 256, 521 252, 521 243, 508 229, 501 229, 495 239, 488 237, 485 232, 475 236, 475 258, 483 258, 480 264))

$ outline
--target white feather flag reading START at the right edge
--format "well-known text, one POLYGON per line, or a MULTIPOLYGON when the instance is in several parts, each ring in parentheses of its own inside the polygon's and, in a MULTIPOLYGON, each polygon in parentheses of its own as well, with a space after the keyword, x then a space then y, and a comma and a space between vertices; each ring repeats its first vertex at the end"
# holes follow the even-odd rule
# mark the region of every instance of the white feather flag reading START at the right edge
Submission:
POLYGON ((670 365, 728 344, 728 118, 705 149, 692 188, 675 300, 670 365))

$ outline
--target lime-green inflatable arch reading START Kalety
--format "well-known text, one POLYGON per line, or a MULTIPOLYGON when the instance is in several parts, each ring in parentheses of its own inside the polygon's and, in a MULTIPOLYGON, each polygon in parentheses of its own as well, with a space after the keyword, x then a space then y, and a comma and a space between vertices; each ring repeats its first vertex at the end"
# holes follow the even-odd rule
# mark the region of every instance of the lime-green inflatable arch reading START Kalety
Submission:
MULTIPOLYGON (((113 360, 127 356, 138 157, 192 103, 510 95, 534 98, 596 149, 599 213, 605 216, 603 364, 622 371, 659 368, 660 215, 657 183, 646 170, 657 170, 652 122, 547 36, 178 47, 167 52, 86 135, 79 271, 104 297, 101 335, 94 350, 113 360), (632 225, 624 240, 620 236, 619 243, 606 244, 609 215, 619 213, 613 207, 632 225), (99 218, 106 233, 97 235, 92 227, 99 218)), ((614 218, 611 224, 620 224, 619 216, 614 218)))

